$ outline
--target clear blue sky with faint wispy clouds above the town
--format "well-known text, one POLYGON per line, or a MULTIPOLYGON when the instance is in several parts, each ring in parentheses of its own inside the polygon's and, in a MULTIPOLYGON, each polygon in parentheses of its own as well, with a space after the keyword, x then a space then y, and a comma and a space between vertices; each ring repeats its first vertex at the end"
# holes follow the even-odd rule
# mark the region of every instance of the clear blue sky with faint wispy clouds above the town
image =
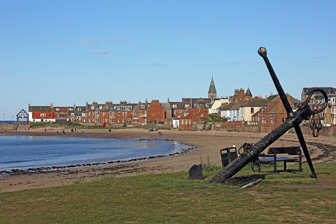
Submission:
MULTIPOLYGON (((1 1, 0 114, 335 81, 335 1, 1 1), (291 80, 289 80, 291 79, 291 80)), ((8 117, 7 117, 8 114, 8 117)), ((3 115, 1 115, 3 116, 3 115)), ((1 118, 3 119, 3 118, 1 118)))

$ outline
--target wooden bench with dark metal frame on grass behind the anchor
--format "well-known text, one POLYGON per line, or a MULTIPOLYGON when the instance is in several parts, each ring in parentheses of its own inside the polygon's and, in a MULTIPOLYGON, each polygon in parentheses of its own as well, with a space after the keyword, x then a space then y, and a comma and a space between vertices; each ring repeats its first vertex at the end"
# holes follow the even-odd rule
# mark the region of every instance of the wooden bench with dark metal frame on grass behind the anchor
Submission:
POLYGON ((269 158, 259 158, 258 172, 260 173, 277 173, 277 162, 284 162, 284 172, 302 172, 302 151, 301 146, 290 146, 290 147, 269 147, 267 154, 259 154, 259 157, 269 157, 269 158), (289 158, 285 156, 278 156, 278 154, 288 154, 288 155, 298 155, 299 159, 289 158), (299 169, 287 169, 287 162, 298 162, 299 169), (261 164, 274 164, 274 171, 260 171, 261 164))

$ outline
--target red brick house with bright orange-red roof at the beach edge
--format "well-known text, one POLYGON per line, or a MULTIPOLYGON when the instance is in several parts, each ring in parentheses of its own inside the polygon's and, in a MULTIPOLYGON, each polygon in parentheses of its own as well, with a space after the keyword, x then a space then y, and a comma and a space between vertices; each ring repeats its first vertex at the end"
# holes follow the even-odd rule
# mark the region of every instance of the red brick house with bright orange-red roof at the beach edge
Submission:
POLYGON ((187 110, 185 115, 179 118, 179 127, 182 130, 192 130, 194 124, 202 124, 206 119, 211 120, 211 117, 204 106, 200 106, 199 109, 187 110))

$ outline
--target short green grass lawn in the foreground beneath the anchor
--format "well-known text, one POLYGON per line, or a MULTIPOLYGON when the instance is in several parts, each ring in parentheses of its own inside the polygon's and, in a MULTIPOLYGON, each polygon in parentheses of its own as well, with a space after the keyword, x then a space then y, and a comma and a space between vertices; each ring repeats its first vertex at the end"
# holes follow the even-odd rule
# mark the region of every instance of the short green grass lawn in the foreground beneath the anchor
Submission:
MULTIPOLYGON (((289 166, 295 168, 296 166, 289 166)), ((336 181, 336 163, 314 164, 336 181)), ((271 168, 269 168, 271 170, 271 168)), ((83 184, 0 193, 1 223, 316 223, 336 222, 336 189, 310 188, 302 173, 264 178, 250 189, 187 181, 187 172, 120 177, 83 184), (288 186, 288 184, 295 186, 288 186)))

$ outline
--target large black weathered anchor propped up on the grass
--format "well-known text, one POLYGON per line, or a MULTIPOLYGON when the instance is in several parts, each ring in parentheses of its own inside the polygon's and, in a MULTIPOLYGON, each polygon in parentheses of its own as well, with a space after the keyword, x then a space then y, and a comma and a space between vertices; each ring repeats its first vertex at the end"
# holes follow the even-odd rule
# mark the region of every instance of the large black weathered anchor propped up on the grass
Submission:
POLYGON ((212 178, 210 178, 206 182, 207 184, 225 182, 227 179, 233 177, 237 172, 239 172, 249 162, 252 162, 252 168, 253 168, 254 165, 258 164, 259 153, 265 150, 270 144, 274 143, 277 139, 279 139, 282 135, 284 135, 289 129, 293 127, 295 129, 299 143, 302 147, 302 151, 309 165, 309 168, 311 171, 311 177, 317 179, 316 173, 314 171, 314 166, 311 162, 311 158, 309 156, 307 145, 305 143, 305 140, 304 140, 304 137, 303 137, 303 134, 302 134, 302 131, 299 125, 302 123, 303 120, 308 120, 312 116, 312 122, 311 122, 310 128, 312 129, 312 132, 313 132, 312 135, 314 137, 318 137, 319 131, 322 129, 322 124, 319 119, 320 113, 327 107, 328 96, 323 89, 315 88, 310 92, 310 94, 308 95, 307 99, 304 102, 298 104, 298 107, 297 107, 298 109, 294 112, 288 102, 288 99, 279 82, 279 79, 277 78, 272 68, 272 65, 270 64, 267 58, 266 48, 260 47, 258 49, 258 53, 265 61, 269 74, 279 93, 280 99, 282 103, 284 104, 284 107, 287 111, 287 118, 282 124, 280 124, 274 130, 272 130, 270 133, 268 133, 264 138, 262 138, 259 142, 255 143, 254 145, 244 143, 244 145, 241 147, 241 148, 244 148, 244 151, 241 153, 241 155, 237 157, 235 160, 233 160, 231 163, 229 163, 227 166, 225 166, 221 171, 215 174, 212 178), (322 93, 322 95, 324 96, 324 104, 322 108, 312 110, 310 106, 308 105, 308 103, 310 101, 310 98, 315 92, 322 93), (318 114, 317 122, 314 120, 315 114, 318 114), (315 130, 317 130, 316 134, 315 134, 315 130))

